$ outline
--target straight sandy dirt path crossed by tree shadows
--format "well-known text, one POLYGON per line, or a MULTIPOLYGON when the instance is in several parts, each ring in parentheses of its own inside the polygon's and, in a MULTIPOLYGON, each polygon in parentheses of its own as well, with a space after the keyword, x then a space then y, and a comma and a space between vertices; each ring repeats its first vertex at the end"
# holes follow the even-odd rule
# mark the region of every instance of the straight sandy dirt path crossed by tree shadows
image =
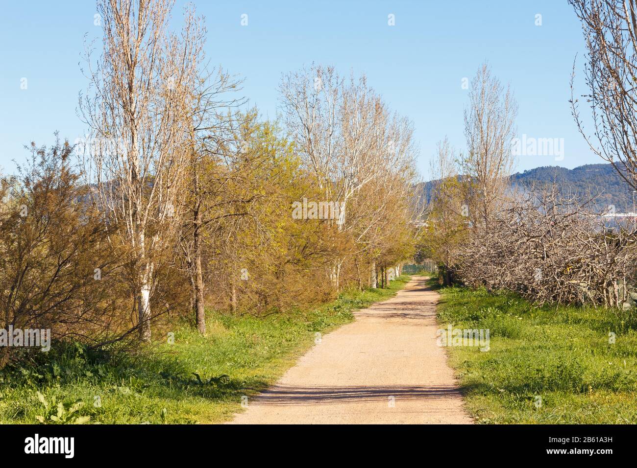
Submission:
POLYGON ((425 283, 415 277, 323 336, 233 423, 471 423, 425 283))

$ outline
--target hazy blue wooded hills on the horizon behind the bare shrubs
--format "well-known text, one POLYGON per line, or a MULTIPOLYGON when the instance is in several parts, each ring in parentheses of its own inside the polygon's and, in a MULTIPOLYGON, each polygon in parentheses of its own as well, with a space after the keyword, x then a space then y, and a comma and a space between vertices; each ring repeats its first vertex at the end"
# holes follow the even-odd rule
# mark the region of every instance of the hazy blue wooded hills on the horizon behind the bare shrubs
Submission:
MULTIPOLYGON (((513 174, 511 181, 514 187, 520 188, 547 187, 555 181, 561 194, 574 194, 582 198, 598 195, 597 204, 600 207, 614 205, 618 212, 633 211, 633 192, 611 164, 586 164, 575 169, 536 167, 513 174)), ((431 199, 432 186, 432 181, 422 184, 422 194, 427 202, 431 199)))

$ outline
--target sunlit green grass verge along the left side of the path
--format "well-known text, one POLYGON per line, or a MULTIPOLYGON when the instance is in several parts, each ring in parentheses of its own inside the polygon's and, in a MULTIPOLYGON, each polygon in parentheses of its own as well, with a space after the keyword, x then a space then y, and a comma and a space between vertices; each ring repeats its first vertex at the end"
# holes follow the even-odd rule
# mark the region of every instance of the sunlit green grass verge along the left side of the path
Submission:
POLYGON ((312 346, 317 332, 351 322, 355 309, 396 294, 408 279, 401 276, 385 290, 347 291, 319 308, 266 318, 210 312, 207 336, 184 325, 175 330, 174 344, 144 355, 113 360, 82 346, 40 353, 37 362, 0 371, 0 423, 37 423, 38 416, 52 422, 57 403, 69 408, 78 399, 82 406, 69 422, 75 415, 90 416, 89 423, 230 420, 241 411, 241 397, 276 381, 312 346))

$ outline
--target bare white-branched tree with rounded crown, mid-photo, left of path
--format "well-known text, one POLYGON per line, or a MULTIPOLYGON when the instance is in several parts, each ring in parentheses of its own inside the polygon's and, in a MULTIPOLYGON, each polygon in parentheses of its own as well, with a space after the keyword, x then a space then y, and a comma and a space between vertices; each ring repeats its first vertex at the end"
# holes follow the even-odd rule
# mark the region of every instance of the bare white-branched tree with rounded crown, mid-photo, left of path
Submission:
MULTIPOLYGON (((304 165, 326 201, 340 204, 336 228, 354 236, 357 246, 348 255, 365 252, 375 271, 375 243, 385 235, 380 222, 387 219, 383 203, 395 201, 391 191, 403 190, 413 178, 412 125, 390 114, 365 76, 346 81, 332 67, 291 73, 280 92, 285 123, 304 165), (379 194, 378 187, 387 192, 374 203, 361 202, 371 192, 379 194)), ((329 267, 336 290, 346 257, 329 267)))

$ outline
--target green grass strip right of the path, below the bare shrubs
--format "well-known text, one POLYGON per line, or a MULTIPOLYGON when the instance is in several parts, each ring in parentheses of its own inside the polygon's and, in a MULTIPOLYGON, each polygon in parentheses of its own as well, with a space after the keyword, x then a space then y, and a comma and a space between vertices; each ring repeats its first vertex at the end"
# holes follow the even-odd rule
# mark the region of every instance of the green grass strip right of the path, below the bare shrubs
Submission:
POLYGON ((490 330, 489 351, 448 347, 476 422, 637 423, 634 311, 538 308, 468 288, 440 292, 441 326, 490 330))

